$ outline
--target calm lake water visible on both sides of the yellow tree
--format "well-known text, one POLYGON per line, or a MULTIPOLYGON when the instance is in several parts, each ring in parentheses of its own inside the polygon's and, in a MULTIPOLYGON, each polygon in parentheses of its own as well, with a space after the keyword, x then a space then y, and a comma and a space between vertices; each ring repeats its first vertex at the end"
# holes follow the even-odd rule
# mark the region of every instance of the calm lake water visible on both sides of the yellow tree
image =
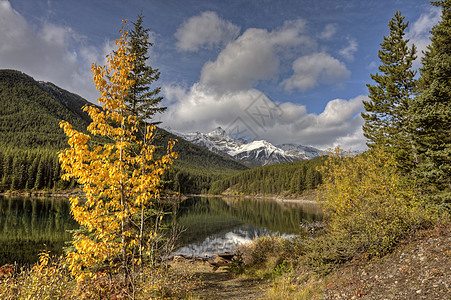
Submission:
MULTIPOLYGON (((294 235, 301 222, 319 219, 318 213, 313 204, 196 197, 169 217, 185 228, 176 253, 204 256, 261 235, 294 235)), ((67 199, 0 197, 0 266, 34 263, 42 249, 62 253, 71 238, 67 230, 75 228, 67 199)))

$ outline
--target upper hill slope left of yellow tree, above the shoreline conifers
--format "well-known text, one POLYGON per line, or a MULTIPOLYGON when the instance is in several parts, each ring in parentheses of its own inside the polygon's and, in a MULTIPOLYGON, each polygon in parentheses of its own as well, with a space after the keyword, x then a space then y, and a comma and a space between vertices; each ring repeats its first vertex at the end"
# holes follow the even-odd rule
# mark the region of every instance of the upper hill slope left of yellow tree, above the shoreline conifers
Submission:
POLYGON ((19 71, 0 70, 0 145, 61 149, 66 136, 59 122, 69 121, 78 130, 86 128, 89 117, 81 107, 88 103, 19 71))

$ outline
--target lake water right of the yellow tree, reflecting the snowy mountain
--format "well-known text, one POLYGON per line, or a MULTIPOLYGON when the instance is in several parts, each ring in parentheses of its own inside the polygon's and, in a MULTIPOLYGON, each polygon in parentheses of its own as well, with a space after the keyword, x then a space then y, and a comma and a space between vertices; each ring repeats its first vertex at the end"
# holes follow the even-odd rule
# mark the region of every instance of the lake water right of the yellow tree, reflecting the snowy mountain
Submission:
POLYGON ((302 222, 321 219, 321 211, 314 203, 193 198, 180 205, 176 219, 185 232, 174 254, 202 257, 232 252, 263 235, 295 236, 302 222))

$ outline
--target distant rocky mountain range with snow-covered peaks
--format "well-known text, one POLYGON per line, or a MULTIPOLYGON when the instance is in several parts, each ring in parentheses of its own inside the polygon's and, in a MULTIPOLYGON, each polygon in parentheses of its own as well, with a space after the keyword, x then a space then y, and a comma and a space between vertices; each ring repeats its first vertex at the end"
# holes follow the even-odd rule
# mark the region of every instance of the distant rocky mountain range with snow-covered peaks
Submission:
POLYGON ((247 162, 249 165, 271 165, 312 159, 322 151, 309 146, 282 144, 274 146, 268 141, 247 142, 227 135, 221 127, 209 133, 177 133, 187 141, 221 155, 247 162))

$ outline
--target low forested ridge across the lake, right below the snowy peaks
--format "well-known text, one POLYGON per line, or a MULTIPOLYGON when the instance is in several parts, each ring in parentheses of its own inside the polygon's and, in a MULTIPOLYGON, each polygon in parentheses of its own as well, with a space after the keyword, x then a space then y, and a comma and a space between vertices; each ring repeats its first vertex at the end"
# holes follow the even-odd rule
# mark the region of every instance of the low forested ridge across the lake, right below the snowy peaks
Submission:
POLYGON ((213 182, 209 192, 221 194, 231 188, 234 192, 244 194, 299 194, 321 183, 321 174, 316 167, 322 161, 319 157, 247 170, 213 182))

